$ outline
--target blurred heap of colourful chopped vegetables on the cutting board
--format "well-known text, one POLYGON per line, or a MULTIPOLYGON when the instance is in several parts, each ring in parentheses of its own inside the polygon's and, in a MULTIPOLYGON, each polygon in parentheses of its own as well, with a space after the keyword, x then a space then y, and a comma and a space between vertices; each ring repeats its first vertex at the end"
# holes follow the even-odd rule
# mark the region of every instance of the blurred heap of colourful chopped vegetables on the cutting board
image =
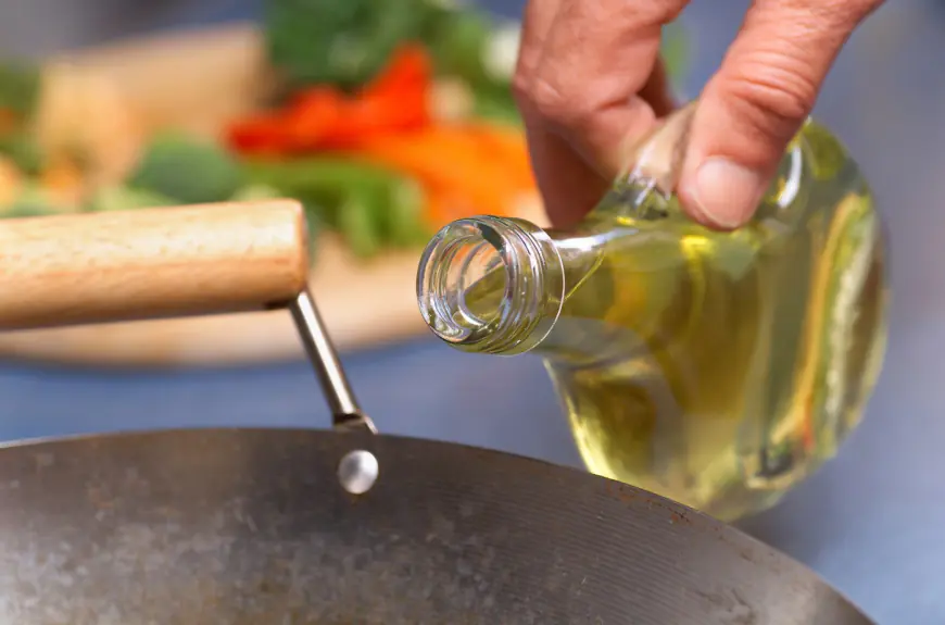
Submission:
MULTIPOLYGON (((264 1, 278 105, 222 145, 147 138, 100 67, 0 64, 0 216, 291 197, 313 240, 327 227, 367 258, 534 197, 511 89, 517 22, 453 0, 264 1)), ((666 28, 670 75, 681 43, 666 28)))

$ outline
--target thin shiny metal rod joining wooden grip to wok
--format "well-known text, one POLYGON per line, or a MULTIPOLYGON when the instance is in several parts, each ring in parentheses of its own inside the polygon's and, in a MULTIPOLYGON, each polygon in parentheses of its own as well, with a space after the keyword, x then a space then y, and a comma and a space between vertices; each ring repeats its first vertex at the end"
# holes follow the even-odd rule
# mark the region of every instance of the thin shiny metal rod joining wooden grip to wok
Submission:
POLYGON ((362 412, 351 390, 348 376, 341 366, 338 352, 331 343, 331 339, 325 329, 322 315, 315 300, 307 289, 303 289, 294 300, 289 303, 295 327, 308 354, 308 360, 318 377, 325 400, 331 410, 332 423, 336 428, 366 428, 377 433, 371 420, 362 412))

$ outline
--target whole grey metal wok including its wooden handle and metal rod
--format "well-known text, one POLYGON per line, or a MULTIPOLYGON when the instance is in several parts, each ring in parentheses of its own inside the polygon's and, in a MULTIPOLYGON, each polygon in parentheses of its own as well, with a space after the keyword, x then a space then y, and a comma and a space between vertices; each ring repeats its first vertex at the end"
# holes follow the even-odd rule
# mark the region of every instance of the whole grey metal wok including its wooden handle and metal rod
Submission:
POLYGON ((870 623, 656 495, 376 434, 304 290, 304 241, 289 201, 0 224, 0 328, 287 307, 336 415, 0 448, 0 623, 870 623))

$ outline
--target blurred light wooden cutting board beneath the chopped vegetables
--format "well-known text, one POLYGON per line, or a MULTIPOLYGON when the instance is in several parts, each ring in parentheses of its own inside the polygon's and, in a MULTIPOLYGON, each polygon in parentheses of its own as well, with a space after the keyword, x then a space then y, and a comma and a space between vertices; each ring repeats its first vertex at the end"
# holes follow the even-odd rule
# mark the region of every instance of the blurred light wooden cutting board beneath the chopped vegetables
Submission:
MULTIPOLYGON (((50 59, 108 76, 146 130, 166 126, 214 133, 252 108, 263 80, 252 24, 162 34, 50 59)), ((538 203, 527 213, 540 220, 538 203)), ((416 303, 419 250, 369 262, 329 235, 317 243, 312 292, 340 349, 426 332, 416 303)), ((0 355, 71 364, 226 365, 299 359, 287 312, 144 321, 0 335, 0 355)))

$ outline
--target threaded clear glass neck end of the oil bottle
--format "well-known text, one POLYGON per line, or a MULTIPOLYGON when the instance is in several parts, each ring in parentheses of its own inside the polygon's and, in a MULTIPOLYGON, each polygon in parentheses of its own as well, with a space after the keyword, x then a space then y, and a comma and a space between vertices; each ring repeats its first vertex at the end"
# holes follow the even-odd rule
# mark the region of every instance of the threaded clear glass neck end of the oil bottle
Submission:
POLYGON ((551 237, 525 220, 455 221, 427 245, 417 274, 424 321, 456 349, 512 355, 557 321, 564 267, 551 237))

